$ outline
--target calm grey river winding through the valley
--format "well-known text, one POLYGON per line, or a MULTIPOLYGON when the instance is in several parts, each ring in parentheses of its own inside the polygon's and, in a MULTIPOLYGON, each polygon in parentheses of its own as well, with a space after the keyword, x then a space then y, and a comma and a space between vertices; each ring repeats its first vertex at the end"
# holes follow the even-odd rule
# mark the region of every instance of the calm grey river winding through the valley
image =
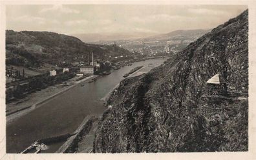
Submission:
MULTIPOLYGON (((71 134, 78 128, 85 116, 103 114, 105 107, 102 99, 124 79, 124 74, 142 65, 145 67, 131 76, 149 72, 165 60, 149 59, 133 63, 131 66, 124 66, 120 70, 112 70, 110 75, 101 77, 92 83, 84 83, 83 86, 77 85, 50 99, 32 112, 15 119, 6 125, 6 152, 19 153, 37 139, 71 134)), ((62 144, 50 146, 47 152, 56 152, 62 144)))

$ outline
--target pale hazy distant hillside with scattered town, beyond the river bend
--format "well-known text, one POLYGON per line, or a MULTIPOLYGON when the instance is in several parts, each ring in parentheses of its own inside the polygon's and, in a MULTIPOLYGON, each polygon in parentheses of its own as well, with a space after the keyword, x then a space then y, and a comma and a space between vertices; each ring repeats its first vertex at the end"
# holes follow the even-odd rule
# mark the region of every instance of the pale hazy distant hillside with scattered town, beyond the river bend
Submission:
POLYGON ((156 54, 167 52, 170 54, 180 52, 189 43, 196 41, 198 37, 206 34, 210 30, 175 30, 167 34, 151 35, 139 39, 123 39, 119 41, 98 41, 94 44, 109 45, 116 43, 130 51, 143 54, 156 54))

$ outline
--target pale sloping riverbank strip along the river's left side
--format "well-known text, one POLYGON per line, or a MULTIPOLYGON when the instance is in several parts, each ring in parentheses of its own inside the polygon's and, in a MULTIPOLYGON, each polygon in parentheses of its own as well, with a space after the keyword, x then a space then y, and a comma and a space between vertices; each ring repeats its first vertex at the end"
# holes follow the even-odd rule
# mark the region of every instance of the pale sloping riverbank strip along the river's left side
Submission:
POLYGON ((6 123, 11 123, 14 119, 17 119, 18 117, 21 117, 28 112, 31 112, 32 110, 38 108, 39 106, 43 105, 50 99, 53 99, 54 97, 57 97, 60 94, 63 94, 67 90, 70 90, 76 85, 79 85, 80 83, 83 83, 89 79, 92 79, 94 77, 98 77, 98 75, 91 75, 89 77, 85 77, 84 79, 81 79, 80 81, 76 81, 79 77, 74 77, 72 79, 69 79, 65 83, 67 85, 58 84, 49 86, 43 90, 39 90, 37 92, 34 92, 26 97, 26 99, 23 99, 21 101, 16 101, 15 103, 9 103, 6 105, 6 123))

